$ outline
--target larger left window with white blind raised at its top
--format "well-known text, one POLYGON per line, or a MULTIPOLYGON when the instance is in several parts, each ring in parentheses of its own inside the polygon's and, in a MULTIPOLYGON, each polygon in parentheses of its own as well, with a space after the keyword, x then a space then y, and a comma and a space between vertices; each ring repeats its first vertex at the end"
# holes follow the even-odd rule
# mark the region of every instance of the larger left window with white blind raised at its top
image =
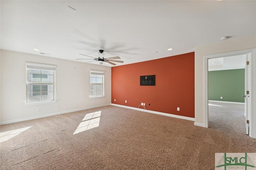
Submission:
POLYGON ((26 63, 27 103, 55 100, 54 65, 26 63))

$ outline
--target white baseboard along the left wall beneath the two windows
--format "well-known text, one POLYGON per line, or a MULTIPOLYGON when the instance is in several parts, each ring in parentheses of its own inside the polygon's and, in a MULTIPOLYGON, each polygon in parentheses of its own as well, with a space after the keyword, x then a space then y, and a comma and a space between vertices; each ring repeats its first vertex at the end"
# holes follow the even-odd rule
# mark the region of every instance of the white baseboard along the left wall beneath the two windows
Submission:
POLYGON ((25 117, 25 118, 21 118, 21 119, 14 119, 14 120, 10 120, 10 121, 1 121, 0 125, 9 124, 9 123, 16 123, 16 122, 32 120, 32 119, 38 119, 38 118, 42 118, 42 117, 60 115, 60 114, 65 114, 65 113, 71 113, 71 112, 74 112, 74 111, 93 109, 93 108, 96 108, 96 107, 103 107, 103 106, 109 106, 109 105, 110 104, 90 106, 90 107, 84 107, 84 108, 80 108, 80 109, 73 109, 73 110, 67 110, 67 111, 59 111, 59 112, 56 112, 56 113, 49 113, 49 114, 45 114, 45 115, 37 115, 37 116, 25 117))

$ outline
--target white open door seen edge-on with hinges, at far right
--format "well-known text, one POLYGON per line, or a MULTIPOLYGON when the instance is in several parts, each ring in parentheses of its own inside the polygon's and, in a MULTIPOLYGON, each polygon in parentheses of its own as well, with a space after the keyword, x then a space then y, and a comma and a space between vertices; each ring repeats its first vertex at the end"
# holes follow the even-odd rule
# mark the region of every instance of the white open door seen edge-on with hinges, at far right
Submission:
MULTIPOLYGON (((249 61, 249 56, 250 54, 246 55, 246 61, 249 61)), ((250 95, 247 94, 247 92, 249 92, 249 64, 246 62, 246 66, 245 66, 245 93, 244 96, 245 97, 245 129, 246 129, 246 134, 249 135, 249 100, 250 100, 250 95)))

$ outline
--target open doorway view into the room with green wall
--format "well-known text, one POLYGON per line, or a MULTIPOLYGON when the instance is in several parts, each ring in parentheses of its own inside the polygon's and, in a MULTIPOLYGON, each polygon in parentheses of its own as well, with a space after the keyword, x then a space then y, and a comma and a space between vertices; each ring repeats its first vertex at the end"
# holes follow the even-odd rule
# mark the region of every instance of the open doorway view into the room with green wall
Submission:
MULTIPOLYGON (((245 134, 247 55, 208 59, 209 127, 245 134)), ((246 133, 248 135, 248 133, 246 133)))

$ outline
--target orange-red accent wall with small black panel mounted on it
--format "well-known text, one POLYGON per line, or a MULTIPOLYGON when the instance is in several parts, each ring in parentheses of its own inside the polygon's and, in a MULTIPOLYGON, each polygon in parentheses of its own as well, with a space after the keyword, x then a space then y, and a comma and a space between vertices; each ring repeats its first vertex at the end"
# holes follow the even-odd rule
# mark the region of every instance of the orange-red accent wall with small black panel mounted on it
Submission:
POLYGON ((147 110, 194 117, 194 52, 112 67, 111 74, 112 104, 138 108, 143 102, 147 110), (156 86, 140 86, 146 75, 156 75, 156 86))

